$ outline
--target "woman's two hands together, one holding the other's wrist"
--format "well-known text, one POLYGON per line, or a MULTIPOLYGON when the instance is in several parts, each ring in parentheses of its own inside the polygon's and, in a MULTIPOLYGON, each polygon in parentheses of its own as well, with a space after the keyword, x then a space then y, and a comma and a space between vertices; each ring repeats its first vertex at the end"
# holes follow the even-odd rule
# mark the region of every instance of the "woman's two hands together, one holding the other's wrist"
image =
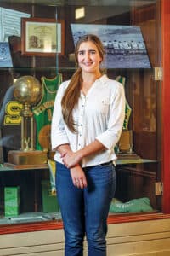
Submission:
POLYGON ((71 178, 73 184, 80 189, 87 187, 87 179, 85 173, 80 166, 82 161, 82 156, 79 152, 66 152, 61 154, 62 161, 64 165, 71 170, 71 178))

